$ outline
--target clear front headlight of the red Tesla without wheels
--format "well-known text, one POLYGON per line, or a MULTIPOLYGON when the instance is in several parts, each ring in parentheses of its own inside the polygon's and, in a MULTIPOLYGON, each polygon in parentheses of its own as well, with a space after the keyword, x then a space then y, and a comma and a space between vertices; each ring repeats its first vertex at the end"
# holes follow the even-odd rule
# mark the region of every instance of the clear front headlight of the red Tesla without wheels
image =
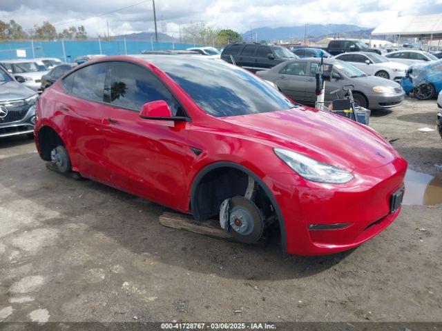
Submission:
POLYGON ((275 148, 275 154, 301 177, 320 183, 343 184, 354 179, 347 170, 298 154, 293 150, 275 148))

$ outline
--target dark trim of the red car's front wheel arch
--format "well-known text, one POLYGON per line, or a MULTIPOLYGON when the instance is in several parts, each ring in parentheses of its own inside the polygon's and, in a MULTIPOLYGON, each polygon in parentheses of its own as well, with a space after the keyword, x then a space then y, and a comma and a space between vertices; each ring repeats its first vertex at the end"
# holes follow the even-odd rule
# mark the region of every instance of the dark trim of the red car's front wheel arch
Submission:
POLYGON ((204 168, 202 168, 198 174, 196 174, 195 178, 193 179, 193 183, 191 185, 191 210, 193 217, 198 220, 204 219, 202 215, 199 213, 198 206, 196 203, 197 200, 197 194, 198 194, 198 186, 201 183, 202 179, 206 176, 206 174, 209 174, 213 170, 217 170, 219 168, 233 168, 235 170, 240 170, 244 172, 245 174, 248 174, 250 177, 252 177, 258 185, 264 190, 265 194, 267 194, 267 197, 269 198, 271 204, 273 205, 273 208, 276 212, 276 216, 278 218, 278 225, 280 229, 280 240, 281 240, 281 247, 283 252, 287 252, 287 233, 285 230, 285 222, 282 217, 282 212, 280 210, 280 207, 278 205, 278 202, 276 201, 275 197, 273 196, 273 193, 269 189, 269 187, 266 185, 266 183, 253 171, 251 171, 249 168, 245 167, 244 165, 240 165, 239 163, 231 162, 231 161, 218 161, 215 163, 211 163, 209 165, 206 165, 204 168))

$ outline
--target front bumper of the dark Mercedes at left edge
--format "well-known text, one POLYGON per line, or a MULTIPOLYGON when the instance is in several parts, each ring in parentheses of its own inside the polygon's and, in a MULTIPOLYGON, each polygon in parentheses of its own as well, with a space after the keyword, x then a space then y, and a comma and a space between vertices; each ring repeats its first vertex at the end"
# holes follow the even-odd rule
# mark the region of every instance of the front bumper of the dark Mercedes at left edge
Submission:
POLYGON ((12 120, 9 120, 9 118, 0 119, 0 138, 30 134, 34 132, 34 127, 35 106, 28 106, 27 110, 23 110, 21 114, 12 117, 12 120))

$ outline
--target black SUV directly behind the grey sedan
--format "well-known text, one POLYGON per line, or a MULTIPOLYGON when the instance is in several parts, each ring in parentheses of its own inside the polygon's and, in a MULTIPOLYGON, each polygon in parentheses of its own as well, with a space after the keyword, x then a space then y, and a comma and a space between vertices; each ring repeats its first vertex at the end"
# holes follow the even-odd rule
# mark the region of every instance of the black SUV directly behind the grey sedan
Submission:
POLYGON ((281 46, 259 43, 231 43, 222 50, 221 59, 251 72, 273 68, 277 64, 298 57, 281 46))

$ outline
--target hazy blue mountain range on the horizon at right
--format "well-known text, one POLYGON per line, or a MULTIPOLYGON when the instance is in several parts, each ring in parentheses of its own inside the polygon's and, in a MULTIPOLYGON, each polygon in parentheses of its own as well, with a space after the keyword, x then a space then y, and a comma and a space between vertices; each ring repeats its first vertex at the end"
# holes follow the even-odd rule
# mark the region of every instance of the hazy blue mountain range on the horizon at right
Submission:
POLYGON ((306 26, 285 26, 281 28, 255 28, 242 33, 245 41, 278 41, 287 39, 303 39, 305 32, 307 38, 316 39, 326 35, 345 34, 346 32, 365 31, 367 28, 354 24, 307 24, 306 26))

